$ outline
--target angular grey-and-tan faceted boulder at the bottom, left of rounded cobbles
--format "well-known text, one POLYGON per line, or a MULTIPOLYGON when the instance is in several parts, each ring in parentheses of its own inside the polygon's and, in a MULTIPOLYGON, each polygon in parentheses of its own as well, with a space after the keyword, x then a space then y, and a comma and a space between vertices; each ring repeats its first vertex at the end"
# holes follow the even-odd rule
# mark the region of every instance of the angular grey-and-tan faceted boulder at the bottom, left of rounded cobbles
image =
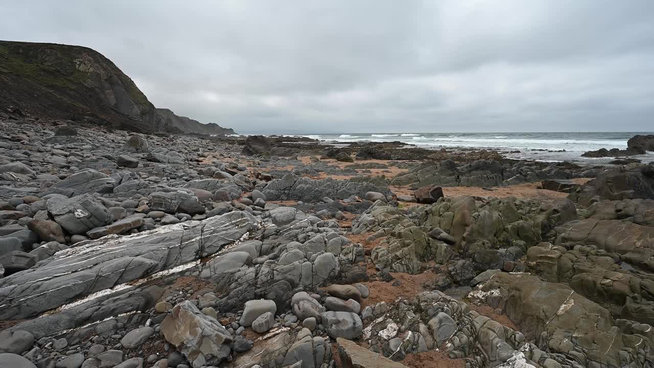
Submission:
POLYGON ((173 307, 161 327, 165 339, 177 346, 194 368, 218 365, 230 355, 232 335, 190 301, 173 307))

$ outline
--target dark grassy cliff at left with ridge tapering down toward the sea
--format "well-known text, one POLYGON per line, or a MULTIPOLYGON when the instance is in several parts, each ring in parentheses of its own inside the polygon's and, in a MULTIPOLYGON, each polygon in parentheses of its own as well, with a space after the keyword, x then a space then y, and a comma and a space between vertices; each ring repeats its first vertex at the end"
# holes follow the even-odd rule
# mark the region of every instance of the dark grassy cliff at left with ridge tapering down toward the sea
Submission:
POLYGON ((233 134, 156 109, 111 60, 82 46, 0 41, 0 108, 135 132, 233 134))

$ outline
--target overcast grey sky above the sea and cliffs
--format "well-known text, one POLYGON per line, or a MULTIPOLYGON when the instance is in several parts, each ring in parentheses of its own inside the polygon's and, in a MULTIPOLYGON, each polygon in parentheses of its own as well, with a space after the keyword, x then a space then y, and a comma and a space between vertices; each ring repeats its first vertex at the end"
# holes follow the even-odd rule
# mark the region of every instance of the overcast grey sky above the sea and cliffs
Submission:
POLYGON ((3 0, 0 14, 0 39, 94 48, 157 107, 238 132, 654 130, 652 0, 3 0))

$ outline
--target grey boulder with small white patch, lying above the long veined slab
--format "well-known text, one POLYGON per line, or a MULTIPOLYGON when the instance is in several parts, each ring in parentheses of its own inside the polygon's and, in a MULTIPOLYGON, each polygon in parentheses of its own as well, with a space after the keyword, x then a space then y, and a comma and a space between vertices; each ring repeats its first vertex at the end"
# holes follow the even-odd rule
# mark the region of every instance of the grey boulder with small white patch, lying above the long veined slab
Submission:
POLYGON ((60 200, 48 200, 48 213, 70 234, 84 234, 88 230, 109 225, 114 220, 105 206, 90 194, 60 200))

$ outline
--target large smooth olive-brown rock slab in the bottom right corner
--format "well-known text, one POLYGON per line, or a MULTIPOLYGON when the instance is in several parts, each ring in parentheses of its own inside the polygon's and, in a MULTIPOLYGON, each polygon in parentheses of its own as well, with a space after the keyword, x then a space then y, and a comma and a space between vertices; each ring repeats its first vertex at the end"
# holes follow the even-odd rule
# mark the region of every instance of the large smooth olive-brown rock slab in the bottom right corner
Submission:
MULTIPOLYGON (((617 324, 608 310, 566 285, 502 273, 471 295, 504 310, 526 339, 535 339, 538 346, 547 346, 564 359, 583 357, 589 366, 642 367, 645 356, 652 354, 651 339, 638 335, 642 329, 617 324)), ((549 358, 565 363, 553 354, 549 358)))

